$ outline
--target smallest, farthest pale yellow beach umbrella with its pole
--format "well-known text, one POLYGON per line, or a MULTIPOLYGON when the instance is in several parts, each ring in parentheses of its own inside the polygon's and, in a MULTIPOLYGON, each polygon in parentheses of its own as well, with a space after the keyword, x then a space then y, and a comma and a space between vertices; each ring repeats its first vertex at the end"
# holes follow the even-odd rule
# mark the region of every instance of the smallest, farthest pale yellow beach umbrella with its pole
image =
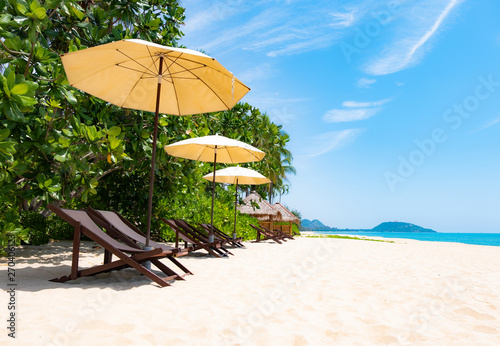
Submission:
MULTIPOLYGON (((212 174, 203 176, 203 179, 212 180, 212 174)), ((260 185, 270 183, 271 180, 253 169, 244 167, 227 167, 215 171, 215 181, 224 184, 236 184, 234 196, 234 230, 233 239, 236 239, 236 207, 238 206, 238 184, 260 185)))

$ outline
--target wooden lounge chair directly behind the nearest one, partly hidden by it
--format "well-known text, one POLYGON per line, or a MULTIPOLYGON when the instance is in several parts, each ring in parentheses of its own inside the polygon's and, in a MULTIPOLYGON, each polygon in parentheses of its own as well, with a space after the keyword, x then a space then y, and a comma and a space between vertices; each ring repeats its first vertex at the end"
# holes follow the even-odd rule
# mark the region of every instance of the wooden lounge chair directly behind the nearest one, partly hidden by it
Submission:
MULTIPOLYGON (((104 228, 107 233, 113 238, 118 239, 129 246, 138 247, 140 249, 142 249, 144 247, 144 244, 146 244, 146 235, 116 211, 95 210, 90 207, 87 208, 86 211, 87 214, 89 214, 90 218, 99 227, 104 228)), ((174 258, 188 254, 193 250, 192 247, 188 247, 185 249, 174 248, 166 244, 157 243, 151 239, 149 240, 149 246, 151 246, 152 248, 160 248, 164 251, 171 251, 172 256, 168 256, 167 258, 177 267, 179 267, 184 273, 193 275, 193 273, 189 269, 184 267, 181 263, 179 263, 178 260, 174 258)))

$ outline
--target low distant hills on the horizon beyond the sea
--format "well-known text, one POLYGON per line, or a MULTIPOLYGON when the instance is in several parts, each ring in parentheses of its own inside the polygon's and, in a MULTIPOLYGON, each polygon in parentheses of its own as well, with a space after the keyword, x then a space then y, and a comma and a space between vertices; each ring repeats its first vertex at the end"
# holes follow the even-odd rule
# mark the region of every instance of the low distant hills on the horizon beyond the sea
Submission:
POLYGON ((317 232, 317 231, 338 231, 338 232, 415 232, 415 233, 422 233, 422 232, 433 232, 437 233, 436 231, 428 228, 423 228, 417 225, 414 225, 412 223, 406 223, 406 222, 382 222, 380 225, 373 227, 372 229, 340 229, 336 227, 330 227, 324 225, 321 221, 319 220, 308 220, 308 219, 302 219, 300 221, 300 230, 302 232, 317 232))

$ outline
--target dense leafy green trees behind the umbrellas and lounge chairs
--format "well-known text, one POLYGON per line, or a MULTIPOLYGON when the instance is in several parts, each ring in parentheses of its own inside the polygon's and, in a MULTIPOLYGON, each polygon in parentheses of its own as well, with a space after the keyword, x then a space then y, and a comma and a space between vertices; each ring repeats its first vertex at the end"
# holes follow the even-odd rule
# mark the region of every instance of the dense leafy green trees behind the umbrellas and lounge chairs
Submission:
MULTIPOLYGON (((54 201, 126 211, 144 222, 154 115, 70 87, 60 55, 129 38, 178 46, 184 8, 169 0, 0 0, 0 13, 0 244, 7 233, 27 240, 23 215, 54 201)), ((210 164, 161 150, 190 136, 220 133, 262 148, 266 158, 254 168, 272 179, 274 193, 288 189, 289 137, 248 104, 208 115, 161 115, 158 133, 156 213, 192 214, 196 208, 184 207, 193 196, 209 195, 201 176, 210 164)))

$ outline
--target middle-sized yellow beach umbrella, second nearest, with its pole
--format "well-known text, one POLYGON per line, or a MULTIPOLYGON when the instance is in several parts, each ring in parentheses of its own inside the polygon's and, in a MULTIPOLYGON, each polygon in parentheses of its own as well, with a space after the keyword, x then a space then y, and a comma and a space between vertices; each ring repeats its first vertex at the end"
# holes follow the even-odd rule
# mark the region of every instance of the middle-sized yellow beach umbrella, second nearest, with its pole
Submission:
MULTIPOLYGON (((217 162, 233 164, 255 162, 262 160, 266 155, 262 150, 250 144, 219 135, 185 139, 165 146, 165 150, 172 156, 214 163, 211 226, 214 225, 215 170, 217 162)), ((212 230, 210 230, 210 239, 213 241, 212 230)))

